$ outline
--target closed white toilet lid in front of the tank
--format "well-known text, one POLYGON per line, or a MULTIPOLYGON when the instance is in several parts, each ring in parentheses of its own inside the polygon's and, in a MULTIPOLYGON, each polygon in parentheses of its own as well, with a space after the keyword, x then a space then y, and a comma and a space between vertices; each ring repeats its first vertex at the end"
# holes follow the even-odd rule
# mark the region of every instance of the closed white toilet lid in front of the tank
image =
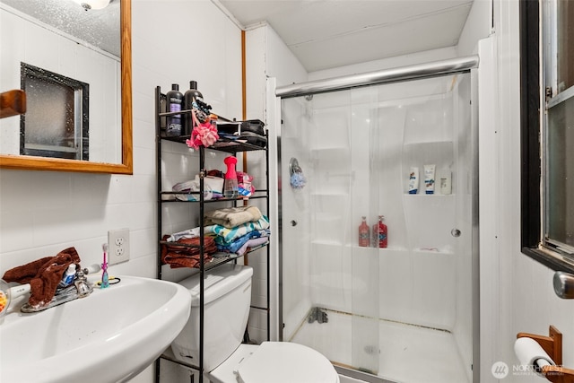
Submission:
POLYGON ((336 383, 335 368, 321 353, 302 344, 264 342, 237 371, 241 383, 336 383), (273 377, 270 380, 269 377, 273 377))

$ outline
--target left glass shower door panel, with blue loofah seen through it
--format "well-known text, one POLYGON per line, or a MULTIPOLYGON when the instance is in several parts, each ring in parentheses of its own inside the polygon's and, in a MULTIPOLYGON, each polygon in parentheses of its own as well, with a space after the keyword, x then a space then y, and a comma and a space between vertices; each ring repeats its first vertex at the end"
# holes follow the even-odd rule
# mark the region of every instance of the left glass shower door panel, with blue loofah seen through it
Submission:
POLYGON ((369 102, 357 106, 356 97, 340 91, 283 101, 282 171, 290 176, 283 177, 290 181, 282 192, 283 274, 297 275, 283 292, 283 336, 377 374, 378 252, 360 248, 357 232, 362 215, 370 230, 378 216, 370 178, 378 148, 352 147, 377 142, 378 130, 369 102))

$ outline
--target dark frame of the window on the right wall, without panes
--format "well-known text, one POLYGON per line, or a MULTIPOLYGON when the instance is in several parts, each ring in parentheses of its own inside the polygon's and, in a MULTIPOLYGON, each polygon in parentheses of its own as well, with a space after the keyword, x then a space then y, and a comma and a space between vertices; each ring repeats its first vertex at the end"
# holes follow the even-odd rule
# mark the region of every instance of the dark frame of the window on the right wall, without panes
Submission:
MULTIPOLYGON (((542 70, 549 69, 542 64, 541 4, 545 6, 544 0, 520 2, 521 247, 523 254, 552 270, 574 273, 574 258, 543 245, 546 92, 542 70)), ((543 28, 551 32, 547 25, 543 28)))

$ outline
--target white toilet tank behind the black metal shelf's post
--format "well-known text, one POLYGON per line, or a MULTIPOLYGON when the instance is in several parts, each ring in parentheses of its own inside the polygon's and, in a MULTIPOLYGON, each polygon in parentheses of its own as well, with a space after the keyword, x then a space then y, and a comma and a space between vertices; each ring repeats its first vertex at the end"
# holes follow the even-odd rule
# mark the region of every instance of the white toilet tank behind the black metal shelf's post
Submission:
MULTIPOLYGON (((204 371, 225 361, 241 344, 248 324, 253 269, 221 265, 204 274, 204 371)), ((199 366, 199 274, 181 282, 191 294, 191 313, 171 344, 179 361, 199 366)))

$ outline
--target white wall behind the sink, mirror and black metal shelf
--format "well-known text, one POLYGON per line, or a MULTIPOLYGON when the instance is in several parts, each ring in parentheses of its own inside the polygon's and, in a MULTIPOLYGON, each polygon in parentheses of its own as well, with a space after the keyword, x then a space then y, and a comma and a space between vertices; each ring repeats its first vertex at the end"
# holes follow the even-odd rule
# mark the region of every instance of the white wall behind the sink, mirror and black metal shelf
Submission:
MULTIPOLYGON (((240 118, 239 29, 208 0, 134 0, 132 8, 134 175, 0 170, 2 273, 70 246, 83 265, 100 263, 107 231, 126 227, 131 260, 109 273, 155 277, 155 86, 179 83, 185 91, 196 80, 213 110, 240 118)), ((196 157, 187 158, 183 145, 167 146, 162 166, 172 182, 195 174, 196 157)), ((187 226, 186 213, 168 225, 187 226)), ((135 381, 152 382, 152 369, 135 381)))

